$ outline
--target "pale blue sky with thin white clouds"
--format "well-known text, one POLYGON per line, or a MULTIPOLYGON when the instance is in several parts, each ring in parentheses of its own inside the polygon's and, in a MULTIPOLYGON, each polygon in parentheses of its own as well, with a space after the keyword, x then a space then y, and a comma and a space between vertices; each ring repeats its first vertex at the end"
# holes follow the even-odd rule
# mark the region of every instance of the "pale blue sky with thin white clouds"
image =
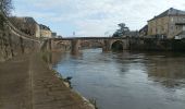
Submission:
POLYGON ((138 31, 147 21, 185 0, 13 0, 12 15, 33 16, 63 37, 110 36, 125 23, 138 31))

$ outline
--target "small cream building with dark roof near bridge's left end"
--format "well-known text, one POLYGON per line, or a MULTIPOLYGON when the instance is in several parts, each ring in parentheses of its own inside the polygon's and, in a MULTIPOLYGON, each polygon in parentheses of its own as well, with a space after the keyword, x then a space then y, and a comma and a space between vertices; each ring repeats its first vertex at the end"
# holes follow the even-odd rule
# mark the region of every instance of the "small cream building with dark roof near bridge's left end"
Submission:
POLYGON ((42 38, 51 38, 52 37, 52 32, 50 28, 46 25, 40 24, 40 37, 42 38))

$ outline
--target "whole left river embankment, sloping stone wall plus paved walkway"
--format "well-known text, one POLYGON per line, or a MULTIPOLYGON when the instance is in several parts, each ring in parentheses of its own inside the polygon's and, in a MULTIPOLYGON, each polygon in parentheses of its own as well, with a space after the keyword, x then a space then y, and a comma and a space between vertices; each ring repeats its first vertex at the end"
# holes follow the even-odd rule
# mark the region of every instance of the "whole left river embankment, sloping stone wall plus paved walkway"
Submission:
POLYGON ((0 13, 0 109, 94 109, 66 87, 40 53, 41 41, 0 13))

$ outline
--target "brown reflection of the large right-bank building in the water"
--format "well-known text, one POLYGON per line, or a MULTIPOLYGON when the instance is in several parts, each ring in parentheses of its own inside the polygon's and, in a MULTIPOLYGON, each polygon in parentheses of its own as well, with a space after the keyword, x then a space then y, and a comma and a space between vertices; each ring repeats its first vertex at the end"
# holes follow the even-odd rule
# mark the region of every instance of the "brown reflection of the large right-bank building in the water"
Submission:
POLYGON ((173 88, 184 85, 185 58, 174 57, 149 57, 147 62, 148 76, 155 82, 173 88))

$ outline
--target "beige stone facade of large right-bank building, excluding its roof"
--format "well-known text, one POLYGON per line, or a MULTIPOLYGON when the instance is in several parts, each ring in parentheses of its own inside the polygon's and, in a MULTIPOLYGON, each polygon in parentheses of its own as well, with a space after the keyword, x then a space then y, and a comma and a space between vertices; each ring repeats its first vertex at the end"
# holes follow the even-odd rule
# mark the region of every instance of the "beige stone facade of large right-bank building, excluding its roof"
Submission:
POLYGON ((185 22, 184 15, 172 15, 153 19, 148 21, 148 36, 164 35, 166 38, 174 38, 183 31, 183 24, 185 22))

